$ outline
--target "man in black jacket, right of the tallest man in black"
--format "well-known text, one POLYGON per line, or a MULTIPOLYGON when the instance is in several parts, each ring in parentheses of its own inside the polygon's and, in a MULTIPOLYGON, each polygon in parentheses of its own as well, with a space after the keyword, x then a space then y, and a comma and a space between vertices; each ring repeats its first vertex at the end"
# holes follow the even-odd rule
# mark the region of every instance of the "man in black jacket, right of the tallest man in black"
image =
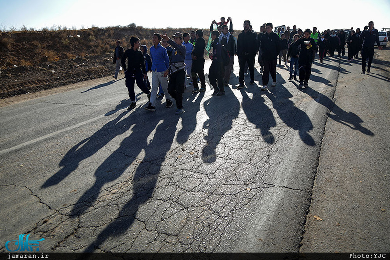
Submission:
POLYGON ((269 76, 273 79, 271 86, 276 86, 276 64, 277 56, 280 53, 280 38, 272 31, 272 23, 265 25, 266 34, 261 37, 261 49, 263 50, 262 59, 264 63, 263 71, 263 87, 261 90, 267 89, 269 76))

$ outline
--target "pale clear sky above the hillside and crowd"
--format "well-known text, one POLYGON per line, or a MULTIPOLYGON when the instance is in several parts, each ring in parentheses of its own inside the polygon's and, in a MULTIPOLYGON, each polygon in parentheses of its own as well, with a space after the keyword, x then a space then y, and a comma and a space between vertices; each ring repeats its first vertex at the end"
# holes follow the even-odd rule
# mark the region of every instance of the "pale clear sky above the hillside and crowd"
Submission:
POLYGON ((221 16, 232 17, 234 30, 241 30, 244 20, 250 20, 255 31, 265 22, 302 29, 316 26, 323 31, 363 29, 372 20, 379 30, 390 28, 390 0, 225 0, 220 7, 217 2, 222 1, 0 0, 0 29, 130 23, 145 28, 209 28, 221 16))

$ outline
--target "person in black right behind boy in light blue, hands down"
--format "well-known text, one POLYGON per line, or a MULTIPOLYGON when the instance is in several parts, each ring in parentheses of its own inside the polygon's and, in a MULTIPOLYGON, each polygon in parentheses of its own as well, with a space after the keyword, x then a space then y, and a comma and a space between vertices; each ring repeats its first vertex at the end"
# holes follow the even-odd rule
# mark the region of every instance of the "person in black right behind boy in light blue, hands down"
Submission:
POLYGON ((196 74, 200 79, 200 91, 206 91, 206 78, 204 77, 204 50, 206 48, 206 42, 203 39, 203 31, 196 30, 195 32, 196 44, 194 50, 191 52, 192 57, 192 67, 191 67, 191 77, 194 84, 194 90, 192 93, 199 92, 198 81, 196 74))

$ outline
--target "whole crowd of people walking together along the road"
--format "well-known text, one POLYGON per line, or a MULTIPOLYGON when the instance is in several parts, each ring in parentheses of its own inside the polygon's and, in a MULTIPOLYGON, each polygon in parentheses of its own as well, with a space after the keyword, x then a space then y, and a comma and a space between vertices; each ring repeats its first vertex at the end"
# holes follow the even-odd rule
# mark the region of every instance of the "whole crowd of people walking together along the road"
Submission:
POLYGON ((373 26, 374 23, 370 21, 363 31, 357 28, 355 32, 352 28, 346 35, 343 30, 338 31, 337 34, 329 29, 319 33, 316 27, 313 27, 312 31, 310 29, 302 31, 296 29, 295 25, 292 31, 287 27, 286 31, 278 28, 278 31, 274 32, 273 24, 265 23, 257 34, 252 29, 250 21, 246 20, 243 24, 244 30, 235 38, 232 19, 229 17, 225 21, 222 17, 221 22, 217 23, 215 20, 212 22, 211 44, 208 46, 203 38, 203 30, 200 29, 192 31, 191 35, 177 32, 171 38, 167 34, 154 33, 153 46, 149 49, 150 55, 147 54, 145 45, 140 46, 137 37, 130 38, 131 48, 126 51, 117 40, 114 52, 114 63, 117 64, 114 78, 117 78, 122 66, 131 100, 129 109, 137 106, 134 92, 134 84, 137 82, 138 87, 148 96, 149 103, 145 107, 146 110, 155 111, 157 96, 165 96, 166 107, 171 107, 175 99, 176 114, 181 114, 184 112, 183 93, 186 88, 186 76, 190 78, 190 84, 194 87, 193 93, 206 91, 205 49, 212 60, 208 74, 211 88, 215 90, 212 95, 225 95, 224 87, 229 85, 235 55, 238 56, 239 63, 238 89, 245 87, 244 78, 248 71, 249 84, 254 84, 254 63, 257 54, 260 74, 262 74, 262 90, 267 90, 270 75, 273 81, 271 86, 276 86, 276 67, 281 66, 282 57, 285 65, 290 62, 289 80, 292 78, 298 80, 299 72, 299 88, 302 88, 308 87, 312 62, 316 54, 319 55, 320 63, 327 54, 333 57, 336 50, 339 56, 343 56, 345 43, 348 47, 348 60, 353 61, 361 51, 362 74, 366 73, 366 59, 368 59, 367 72, 370 72, 374 44, 376 43, 378 48, 382 49, 378 31, 373 26), (215 27, 216 30, 213 30, 215 27), (140 47, 141 50, 138 50, 140 47), (149 83, 147 72, 152 73, 152 84, 149 83), (160 94, 157 94, 158 90, 160 94))

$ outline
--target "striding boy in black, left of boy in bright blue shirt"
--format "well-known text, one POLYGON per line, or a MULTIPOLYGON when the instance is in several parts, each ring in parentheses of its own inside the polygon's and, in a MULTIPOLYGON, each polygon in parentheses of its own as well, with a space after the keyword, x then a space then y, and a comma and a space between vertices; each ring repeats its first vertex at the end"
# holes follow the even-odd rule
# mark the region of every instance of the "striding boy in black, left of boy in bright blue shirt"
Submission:
POLYGON ((131 48, 127 49, 122 56, 122 67, 125 71, 125 84, 131 101, 129 109, 132 109, 137 106, 136 94, 134 93, 134 81, 137 82, 138 87, 143 91, 143 93, 148 95, 148 98, 150 98, 150 91, 143 81, 144 78, 146 79, 147 74, 143 54, 140 50, 138 50, 139 46, 141 45, 139 43, 139 38, 131 37, 130 44, 131 48))

